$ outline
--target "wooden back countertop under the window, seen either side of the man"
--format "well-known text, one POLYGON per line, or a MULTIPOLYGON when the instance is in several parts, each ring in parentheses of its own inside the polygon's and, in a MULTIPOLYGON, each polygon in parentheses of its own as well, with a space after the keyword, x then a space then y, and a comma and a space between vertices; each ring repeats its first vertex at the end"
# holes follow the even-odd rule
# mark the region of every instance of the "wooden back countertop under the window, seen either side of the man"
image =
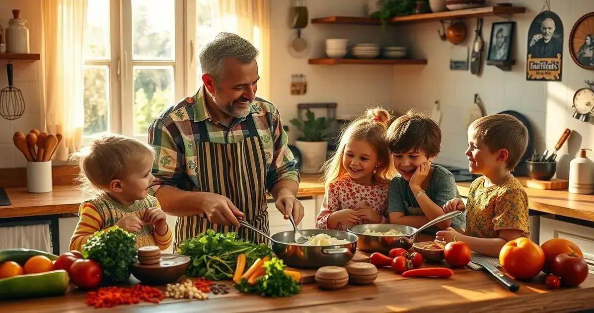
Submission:
MULTIPOLYGON (((52 192, 34 194, 26 187, 5 188, 12 205, 0 207, 0 219, 7 217, 40 216, 78 213, 78 207, 87 197, 72 185, 55 185, 52 192)), ((324 185, 318 175, 301 175, 298 196, 324 194, 324 185)))

